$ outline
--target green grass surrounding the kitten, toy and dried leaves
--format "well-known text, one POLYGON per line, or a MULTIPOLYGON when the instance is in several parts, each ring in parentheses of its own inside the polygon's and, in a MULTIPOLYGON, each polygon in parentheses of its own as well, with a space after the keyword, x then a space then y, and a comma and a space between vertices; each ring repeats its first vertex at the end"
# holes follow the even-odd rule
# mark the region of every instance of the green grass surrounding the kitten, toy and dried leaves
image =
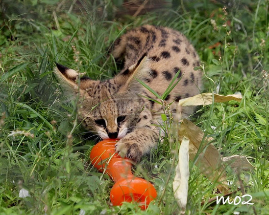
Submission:
POLYGON ((53 74, 59 62, 87 71, 93 79, 112 77, 119 68, 107 59, 107 48, 126 28, 146 23, 172 27, 192 41, 211 79, 205 78, 205 92, 243 95, 241 103, 201 108, 192 121, 215 139, 223 156, 248 157, 255 169, 234 173, 227 168, 227 178, 236 191, 232 196, 251 194, 254 205, 208 203, 220 195, 216 185, 190 163, 187 214, 269 214, 269 81, 262 73, 269 72, 268 0, 236 1, 227 6, 226 15, 223 5, 209 0, 173 1, 172 9, 117 19, 96 12, 106 4, 109 12, 110 1, 81 1, 80 9, 74 5, 71 13, 67 2, 0 1, 0 214, 180 211, 172 191, 176 147, 168 138, 134 168, 154 184, 155 202, 147 211, 130 203, 110 205, 113 182, 89 165, 95 142, 76 122, 75 101, 67 101, 53 74), (30 197, 19 197, 22 188, 30 197))

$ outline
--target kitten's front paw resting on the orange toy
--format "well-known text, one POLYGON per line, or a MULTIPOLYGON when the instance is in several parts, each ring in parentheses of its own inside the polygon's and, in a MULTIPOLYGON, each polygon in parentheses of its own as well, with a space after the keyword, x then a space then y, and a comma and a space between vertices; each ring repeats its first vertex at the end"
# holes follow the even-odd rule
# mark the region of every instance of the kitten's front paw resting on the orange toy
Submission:
POLYGON ((115 150, 121 157, 127 157, 134 162, 139 162, 143 155, 139 145, 129 138, 119 140, 115 145, 115 150))

